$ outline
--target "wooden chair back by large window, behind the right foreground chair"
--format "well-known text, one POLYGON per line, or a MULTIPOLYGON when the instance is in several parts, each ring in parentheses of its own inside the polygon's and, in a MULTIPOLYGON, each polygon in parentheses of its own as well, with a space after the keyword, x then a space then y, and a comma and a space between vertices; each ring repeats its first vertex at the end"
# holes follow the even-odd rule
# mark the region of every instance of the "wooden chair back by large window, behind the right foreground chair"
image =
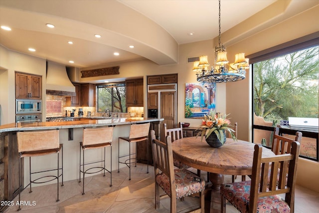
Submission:
POLYGON ((280 136, 279 128, 276 127, 271 150, 276 155, 290 153, 292 143, 294 141, 298 141, 299 143, 301 143, 302 136, 303 133, 301 132, 296 132, 295 140, 280 136))

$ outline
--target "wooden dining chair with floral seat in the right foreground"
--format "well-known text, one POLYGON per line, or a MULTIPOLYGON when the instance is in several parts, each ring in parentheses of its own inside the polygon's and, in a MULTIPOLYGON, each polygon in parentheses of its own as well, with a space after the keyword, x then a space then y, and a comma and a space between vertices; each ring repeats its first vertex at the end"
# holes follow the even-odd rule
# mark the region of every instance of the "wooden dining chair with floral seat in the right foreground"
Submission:
POLYGON ((256 144, 254 149, 251 181, 221 185, 221 212, 226 212, 227 200, 241 213, 294 213, 300 143, 292 142, 290 154, 274 155, 273 157, 262 157, 263 147, 259 144, 256 144), (289 165, 288 171, 286 170, 287 165, 289 165), (271 176, 268 180, 269 166, 271 176), (280 175, 279 180, 277 174, 280 175), (285 194, 285 200, 279 196, 280 194, 285 194))

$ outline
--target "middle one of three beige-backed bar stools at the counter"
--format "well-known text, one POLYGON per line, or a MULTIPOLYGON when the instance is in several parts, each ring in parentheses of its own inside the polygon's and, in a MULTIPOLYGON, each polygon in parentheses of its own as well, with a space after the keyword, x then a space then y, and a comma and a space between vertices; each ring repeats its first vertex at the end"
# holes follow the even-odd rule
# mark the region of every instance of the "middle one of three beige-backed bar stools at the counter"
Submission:
POLYGON ((85 174, 94 174, 104 171, 109 172, 111 174, 111 184, 110 187, 112 187, 112 140, 113 140, 113 129, 114 127, 106 127, 106 128, 83 128, 83 141, 80 142, 80 180, 79 183, 81 183, 81 173, 83 174, 83 192, 82 195, 84 195, 84 175, 85 174), (111 161, 111 168, 110 171, 105 168, 105 151, 106 147, 110 147, 111 149, 111 155, 110 155, 110 161, 111 161), (104 148, 104 160, 96 161, 92 163, 85 163, 84 162, 84 151, 88 149, 99 149, 104 148), (81 164, 81 150, 83 153, 83 162, 81 164), (96 163, 104 163, 103 167, 91 167, 89 169, 84 170, 85 165, 89 164, 96 164, 96 163), (82 170, 81 170, 82 167, 82 170), (100 169, 99 171, 95 172, 89 172, 89 170, 92 169, 100 169))

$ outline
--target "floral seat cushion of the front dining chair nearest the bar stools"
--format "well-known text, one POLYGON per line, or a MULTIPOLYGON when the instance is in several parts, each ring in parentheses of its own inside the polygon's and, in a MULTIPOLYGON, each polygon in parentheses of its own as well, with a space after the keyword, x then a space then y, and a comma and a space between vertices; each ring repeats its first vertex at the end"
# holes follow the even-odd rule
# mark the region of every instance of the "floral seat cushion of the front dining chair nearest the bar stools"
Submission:
MULTIPOLYGON (((205 181, 185 169, 174 169, 176 199, 183 198, 205 190, 205 181)), ((169 178, 165 174, 156 176, 155 181, 167 195, 170 195, 169 178)))

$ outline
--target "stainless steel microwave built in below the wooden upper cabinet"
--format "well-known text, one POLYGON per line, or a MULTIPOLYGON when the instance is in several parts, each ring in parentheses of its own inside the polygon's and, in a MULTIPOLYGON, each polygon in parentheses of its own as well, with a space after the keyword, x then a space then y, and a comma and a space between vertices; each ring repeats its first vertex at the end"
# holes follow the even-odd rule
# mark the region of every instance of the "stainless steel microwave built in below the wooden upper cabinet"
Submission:
POLYGON ((16 99, 15 113, 41 113, 41 100, 16 99))

